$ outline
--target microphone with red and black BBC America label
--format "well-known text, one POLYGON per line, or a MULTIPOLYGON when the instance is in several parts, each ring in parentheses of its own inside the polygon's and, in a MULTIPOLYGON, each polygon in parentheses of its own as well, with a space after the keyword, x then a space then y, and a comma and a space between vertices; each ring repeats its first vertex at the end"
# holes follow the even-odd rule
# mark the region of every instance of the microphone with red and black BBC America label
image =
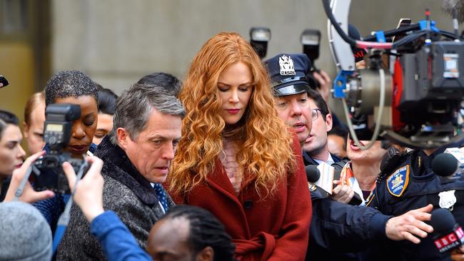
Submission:
POLYGON ((456 222, 453 214, 444 208, 438 208, 432 211, 430 225, 435 231, 433 242, 438 251, 446 252, 464 243, 463 228, 456 222))

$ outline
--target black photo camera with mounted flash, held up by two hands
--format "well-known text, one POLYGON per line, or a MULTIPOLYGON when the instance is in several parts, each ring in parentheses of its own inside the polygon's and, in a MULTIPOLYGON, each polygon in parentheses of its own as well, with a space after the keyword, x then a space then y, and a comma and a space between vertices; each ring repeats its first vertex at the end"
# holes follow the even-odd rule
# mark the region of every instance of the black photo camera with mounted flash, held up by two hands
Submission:
POLYGON ((65 161, 71 163, 76 173, 86 171, 87 167, 84 155, 82 158, 71 158, 70 153, 63 151, 71 138, 73 121, 81 117, 81 107, 76 104, 54 103, 46 107, 45 116, 44 141, 49 146, 49 152, 34 163, 34 167, 39 170, 32 172, 34 189, 69 194, 68 180, 62 164, 65 161))

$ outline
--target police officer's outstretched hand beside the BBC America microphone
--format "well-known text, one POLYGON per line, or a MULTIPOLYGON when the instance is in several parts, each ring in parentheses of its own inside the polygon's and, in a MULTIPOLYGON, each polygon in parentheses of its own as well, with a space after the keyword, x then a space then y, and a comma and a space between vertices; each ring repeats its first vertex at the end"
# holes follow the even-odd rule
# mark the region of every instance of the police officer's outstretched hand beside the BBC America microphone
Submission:
POLYGON ((417 210, 410 210, 398 217, 390 218, 385 225, 385 234, 390 240, 409 240, 415 244, 420 243, 418 237, 425 238, 427 233, 433 232, 433 227, 425 224, 430 220, 430 211, 433 205, 429 204, 417 210))

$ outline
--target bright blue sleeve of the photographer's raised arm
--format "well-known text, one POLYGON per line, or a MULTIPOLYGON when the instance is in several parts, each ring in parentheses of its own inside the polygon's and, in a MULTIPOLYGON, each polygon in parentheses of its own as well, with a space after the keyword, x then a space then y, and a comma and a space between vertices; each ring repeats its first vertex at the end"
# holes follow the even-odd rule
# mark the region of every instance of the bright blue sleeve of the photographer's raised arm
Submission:
POLYGON ((92 235, 99 240, 106 257, 114 260, 151 260, 129 232, 127 227, 112 211, 106 211, 91 222, 92 235))

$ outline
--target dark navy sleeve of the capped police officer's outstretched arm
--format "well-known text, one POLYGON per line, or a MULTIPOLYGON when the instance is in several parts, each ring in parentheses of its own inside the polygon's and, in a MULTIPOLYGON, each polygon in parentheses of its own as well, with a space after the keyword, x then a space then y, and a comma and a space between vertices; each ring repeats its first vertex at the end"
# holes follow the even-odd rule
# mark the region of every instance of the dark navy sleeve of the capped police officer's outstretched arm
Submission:
POLYGON ((311 193, 311 199, 311 244, 323 249, 355 252, 387 239, 385 224, 391 216, 373 208, 321 198, 317 191, 311 193))

